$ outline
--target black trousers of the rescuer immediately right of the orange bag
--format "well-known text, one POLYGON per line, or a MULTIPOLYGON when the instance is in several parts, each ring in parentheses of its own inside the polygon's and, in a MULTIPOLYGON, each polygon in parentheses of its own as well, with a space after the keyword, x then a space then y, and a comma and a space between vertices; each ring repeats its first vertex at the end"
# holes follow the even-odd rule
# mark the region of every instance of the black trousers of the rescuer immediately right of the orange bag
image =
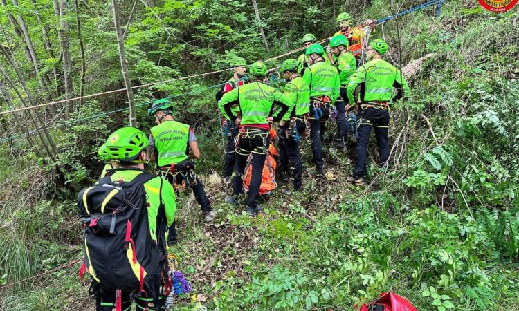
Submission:
MULTIPOLYGON (((306 124, 302 120, 295 120, 295 127, 302 135, 306 124)), ((293 135, 286 137, 285 129, 277 133, 279 137, 279 155, 280 155, 280 169, 281 171, 289 171, 294 189, 301 189, 302 187, 302 159, 299 150, 299 141, 293 138, 293 135)))

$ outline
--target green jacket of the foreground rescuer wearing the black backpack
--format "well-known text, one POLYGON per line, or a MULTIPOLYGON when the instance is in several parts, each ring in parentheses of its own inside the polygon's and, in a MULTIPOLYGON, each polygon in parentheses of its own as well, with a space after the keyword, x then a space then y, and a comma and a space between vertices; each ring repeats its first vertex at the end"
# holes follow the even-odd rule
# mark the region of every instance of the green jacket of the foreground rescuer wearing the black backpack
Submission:
MULTIPOLYGON (((130 182, 140 173, 143 173, 143 171, 140 169, 116 169, 115 172, 110 176, 110 179, 130 182)), ((145 182, 144 190, 146 192, 146 201, 149 204, 147 207, 149 233, 152 235, 152 239, 157 241, 157 217, 158 209, 161 207, 161 196, 167 227, 170 227, 170 225, 173 223, 176 213, 175 192, 173 191, 173 187, 170 182, 161 176, 157 176, 156 178, 145 182)))

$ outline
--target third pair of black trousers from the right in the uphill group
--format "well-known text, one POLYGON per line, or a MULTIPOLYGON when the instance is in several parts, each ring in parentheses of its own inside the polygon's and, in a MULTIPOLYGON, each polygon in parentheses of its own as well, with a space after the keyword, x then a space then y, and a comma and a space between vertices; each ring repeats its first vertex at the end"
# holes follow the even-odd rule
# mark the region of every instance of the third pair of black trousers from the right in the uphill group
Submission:
POLYGON ((310 100, 310 139, 313 153, 313 163, 318 169, 324 167, 325 162, 322 158, 322 142, 325 140, 325 124, 330 116, 329 106, 318 104, 315 100, 310 100), (320 108, 321 113, 316 117, 316 107, 320 108))

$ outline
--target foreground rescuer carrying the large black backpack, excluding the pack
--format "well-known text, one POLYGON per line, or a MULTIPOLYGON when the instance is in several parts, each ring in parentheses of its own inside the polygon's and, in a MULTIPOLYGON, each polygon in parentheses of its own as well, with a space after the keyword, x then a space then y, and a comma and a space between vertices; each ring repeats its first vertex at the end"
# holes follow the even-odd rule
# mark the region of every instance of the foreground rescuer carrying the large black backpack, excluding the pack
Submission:
MULTIPOLYGON (((134 127, 123 127, 109 136, 105 146, 107 146, 106 153, 109 158, 120 162, 120 167, 110 172, 109 178, 111 180, 130 182, 144 172, 145 162, 148 161, 146 152, 148 139, 143 131, 134 127)), ((163 239, 160 236, 165 234, 167 226, 174 221, 176 213, 175 194, 172 186, 165 182, 161 176, 156 176, 145 182, 144 189, 148 206, 149 234, 152 240, 156 241, 154 245, 147 245, 147 247, 154 247, 161 253, 161 256, 157 258, 159 261, 157 275, 160 276, 161 274, 167 274, 168 270, 166 245, 163 244, 163 239)), ((135 301, 137 310, 164 310, 165 301, 163 297, 158 297, 158 300, 152 299, 153 293, 156 293, 155 296, 159 296, 160 288, 164 286, 160 277, 156 278, 156 283, 153 284, 152 288, 145 286, 145 291, 149 294, 149 297, 144 295, 134 296, 138 294, 138 288, 131 291, 122 291, 118 297, 116 291, 104 288, 102 284, 95 280, 92 282, 90 292, 96 300, 95 310, 97 311, 116 310, 118 303, 120 303, 120 310, 130 310, 132 301, 135 301)))

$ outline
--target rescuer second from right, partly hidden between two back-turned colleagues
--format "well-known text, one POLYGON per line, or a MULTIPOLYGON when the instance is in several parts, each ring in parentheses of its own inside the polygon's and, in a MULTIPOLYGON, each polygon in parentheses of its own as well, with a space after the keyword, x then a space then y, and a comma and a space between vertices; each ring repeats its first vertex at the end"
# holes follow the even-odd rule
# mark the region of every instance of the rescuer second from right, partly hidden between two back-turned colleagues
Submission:
MULTIPOLYGON (((352 131, 349 129, 349 125, 346 122, 345 110, 347 100, 347 85, 349 84, 349 78, 355 73, 357 68, 357 61, 352 53, 348 51, 348 40, 344 35, 336 35, 330 39, 331 53, 336 57, 335 66, 339 72, 340 80, 340 97, 335 102, 337 110, 337 129, 338 129, 338 143, 337 149, 343 150, 345 145, 346 135, 352 131)), ((347 105, 349 106, 349 105, 347 105)))

